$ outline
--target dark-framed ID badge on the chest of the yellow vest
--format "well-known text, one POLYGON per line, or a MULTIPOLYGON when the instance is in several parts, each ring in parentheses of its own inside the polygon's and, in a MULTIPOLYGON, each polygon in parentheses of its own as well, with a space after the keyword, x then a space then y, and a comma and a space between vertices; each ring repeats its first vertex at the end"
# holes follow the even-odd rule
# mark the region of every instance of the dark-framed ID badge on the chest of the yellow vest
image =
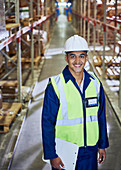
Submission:
POLYGON ((95 106, 98 106, 97 97, 86 98, 86 107, 95 107, 95 106))

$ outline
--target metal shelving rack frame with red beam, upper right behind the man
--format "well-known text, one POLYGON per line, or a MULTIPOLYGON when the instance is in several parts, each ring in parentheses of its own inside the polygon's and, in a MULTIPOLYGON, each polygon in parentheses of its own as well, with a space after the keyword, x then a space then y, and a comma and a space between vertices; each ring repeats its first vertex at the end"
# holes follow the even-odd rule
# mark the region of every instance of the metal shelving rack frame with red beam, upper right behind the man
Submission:
MULTIPOLYGON (((83 36, 85 38, 85 28, 87 26, 87 41, 88 43, 90 44, 90 42, 92 41, 93 42, 93 45, 94 45, 94 51, 93 51, 93 54, 95 54, 95 46, 96 44, 99 44, 101 43, 103 45, 103 64, 102 64, 102 78, 105 79, 105 73, 106 73, 106 66, 105 66, 105 46, 106 45, 113 45, 113 56, 112 57, 115 57, 115 55, 119 55, 119 57, 121 57, 121 20, 117 19, 117 1, 115 2, 115 18, 109 18, 109 17, 106 17, 106 1, 105 1, 105 4, 104 4, 104 20, 103 21, 100 21, 97 19, 96 17, 96 12, 97 12, 97 9, 96 9, 96 0, 93 0, 94 2, 94 8, 93 8, 93 17, 90 16, 90 10, 91 9, 91 5, 90 5, 90 0, 81 0, 81 1, 78 1, 78 3, 75 3, 76 6, 73 6, 73 20, 72 20, 72 23, 73 23, 73 26, 76 28, 76 31, 77 33, 79 33, 81 36, 83 36), (88 10, 85 8, 85 3, 87 3, 88 5, 88 10), (86 15, 86 11, 87 12, 87 15, 86 15), (107 20, 112 20, 114 21, 114 26, 110 25, 110 24, 107 24, 107 20), (80 26, 79 26, 79 21, 80 21, 80 26), (86 22, 85 22, 86 21, 86 22), (117 24, 118 24, 118 27, 117 27, 117 24), (92 31, 90 31, 90 28, 92 28, 92 31), (114 35, 114 43, 113 44, 110 44, 111 42, 108 41, 108 44, 107 44, 107 35, 106 35, 106 30, 109 30, 110 32, 113 33, 114 35), (101 40, 101 42, 99 41, 99 37, 100 37, 100 32, 103 33, 103 39, 101 40), (91 37, 91 34, 93 34, 93 37, 91 37), (97 40, 96 40, 96 34, 97 34, 97 40), (117 35, 118 35, 118 41, 117 41, 117 35), (92 39, 90 39, 92 38, 92 39), (116 44, 119 45, 119 54, 116 54, 115 52, 115 48, 116 48, 116 44)), ((74 3, 74 2, 73 2, 74 3)), ((120 63, 120 66, 121 66, 121 63, 120 63)), ((120 74, 119 74, 119 81, 120 81, 120 85, 119 85, 119 107, 121 108, 121 68, 119 67, 120 69, 120 74)))

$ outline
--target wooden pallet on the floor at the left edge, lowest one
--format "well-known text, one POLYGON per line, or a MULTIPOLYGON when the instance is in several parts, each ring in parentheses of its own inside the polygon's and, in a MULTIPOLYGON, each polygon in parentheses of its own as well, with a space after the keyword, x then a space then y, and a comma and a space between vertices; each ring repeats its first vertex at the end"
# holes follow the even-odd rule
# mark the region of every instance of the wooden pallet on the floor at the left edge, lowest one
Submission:
POLYGON ((17 113, 22 109, 22 103, 2 103, 0 110, 0 133, 9 132, 10 125, 15 121, 17 113))

